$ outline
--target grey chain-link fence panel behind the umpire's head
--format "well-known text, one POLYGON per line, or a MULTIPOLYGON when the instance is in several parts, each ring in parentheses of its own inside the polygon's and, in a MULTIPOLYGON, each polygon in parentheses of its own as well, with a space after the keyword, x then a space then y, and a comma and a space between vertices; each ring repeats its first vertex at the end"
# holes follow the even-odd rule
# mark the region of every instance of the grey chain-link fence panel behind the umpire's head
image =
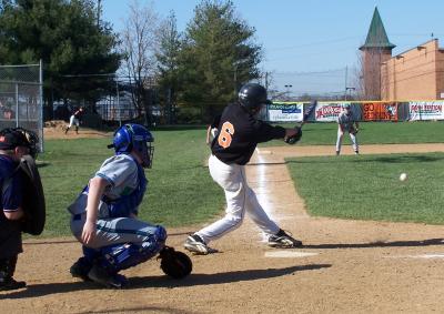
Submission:
POLYGON ((40 138, 43 151, 42 67, 0 65, 0 129, 24 128, 40 138))

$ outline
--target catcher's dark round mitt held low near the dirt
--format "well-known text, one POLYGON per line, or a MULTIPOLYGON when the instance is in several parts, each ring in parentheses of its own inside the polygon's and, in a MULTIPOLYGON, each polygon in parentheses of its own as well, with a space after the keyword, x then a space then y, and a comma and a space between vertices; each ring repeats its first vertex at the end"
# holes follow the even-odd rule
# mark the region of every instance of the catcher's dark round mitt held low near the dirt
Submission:
POLYGON ((160 267, 162 271, 175 280, 188 276, 193 269, 193 263, 185 253, 175 251, 170 246, 164 246, 160 251, 159 259, 161 260, 160 267))

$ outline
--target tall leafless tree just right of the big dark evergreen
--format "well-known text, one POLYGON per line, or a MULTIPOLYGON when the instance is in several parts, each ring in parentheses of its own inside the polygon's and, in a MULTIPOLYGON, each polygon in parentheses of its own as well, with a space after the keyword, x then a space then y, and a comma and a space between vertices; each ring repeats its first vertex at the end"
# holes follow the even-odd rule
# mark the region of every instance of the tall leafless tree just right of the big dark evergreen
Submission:
POLYGON ((151 88, 157 67, 159 17, 153 2, 141 7, 138 0, 130 4, 130 13, 124 23, 122 52, 125 55, 124 70, 132 89, 132 101, 139 115, 144 113, 145 124, 151 124, 151 88))

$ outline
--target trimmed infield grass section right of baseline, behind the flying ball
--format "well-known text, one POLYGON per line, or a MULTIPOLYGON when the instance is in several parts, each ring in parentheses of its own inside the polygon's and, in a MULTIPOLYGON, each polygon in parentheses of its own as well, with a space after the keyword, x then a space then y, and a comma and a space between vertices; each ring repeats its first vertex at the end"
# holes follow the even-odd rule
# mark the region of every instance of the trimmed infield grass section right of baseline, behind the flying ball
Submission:
POLYGON ((287 166, 311 215, 444 224, 444 153, 299 158, 287 166))

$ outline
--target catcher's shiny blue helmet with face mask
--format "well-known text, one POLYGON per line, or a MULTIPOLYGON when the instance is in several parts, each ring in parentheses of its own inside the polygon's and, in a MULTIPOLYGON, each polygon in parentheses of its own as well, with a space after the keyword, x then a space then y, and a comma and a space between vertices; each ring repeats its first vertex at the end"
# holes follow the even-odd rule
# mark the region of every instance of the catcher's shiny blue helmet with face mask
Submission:
POLYGON ((135 150, 141 159, 143 168, 151 168, 154 155, 154 138, 150 131, 140 124, 124 124, 114 132, 112 144, 115 154, 130 153, 135 150))

